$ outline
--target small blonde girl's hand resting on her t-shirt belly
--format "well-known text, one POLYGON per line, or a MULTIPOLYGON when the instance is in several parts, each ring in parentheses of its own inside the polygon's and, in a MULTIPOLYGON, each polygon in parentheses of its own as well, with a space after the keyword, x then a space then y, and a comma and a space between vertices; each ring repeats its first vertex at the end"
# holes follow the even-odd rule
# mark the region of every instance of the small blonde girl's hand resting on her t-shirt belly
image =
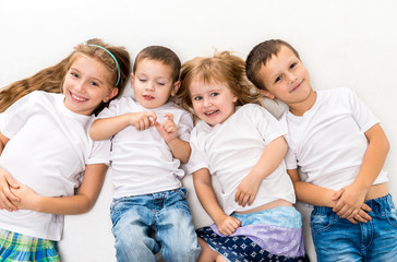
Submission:
POLYGON ((237 188, 234 201, 241 206, 251 205, 255 200, 261 182, 262 180, 257 179, 257 176, 250 172, 237 188))

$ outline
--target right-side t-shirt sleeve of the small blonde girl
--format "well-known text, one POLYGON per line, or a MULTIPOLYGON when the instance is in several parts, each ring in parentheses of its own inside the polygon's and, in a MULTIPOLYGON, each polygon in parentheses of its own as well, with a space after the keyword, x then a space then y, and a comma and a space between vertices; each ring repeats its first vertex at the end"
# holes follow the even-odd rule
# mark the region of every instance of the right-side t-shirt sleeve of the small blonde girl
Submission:
POLYGON ((287 130, 282 128, 278 120, 261 106, 252 105, 252 110, 251 112, 248 111, 248 117, 251 117, 266 145, 287 134, 287 130))

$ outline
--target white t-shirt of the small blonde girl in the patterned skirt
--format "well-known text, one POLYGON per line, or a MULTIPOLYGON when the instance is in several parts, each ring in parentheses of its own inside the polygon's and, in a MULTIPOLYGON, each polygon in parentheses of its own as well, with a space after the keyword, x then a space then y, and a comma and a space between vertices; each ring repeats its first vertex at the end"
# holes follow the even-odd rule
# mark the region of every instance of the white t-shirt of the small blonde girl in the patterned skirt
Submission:
POLYGON ((278 199, 294 203, 293 186, 284 162, 262 181, 252 205, 242 207, 234 201, 237 188, 257 164, 266 145, 284 134, 279 122, 266 109, 253 104, 238 107, 232 116, 215 127, 200 121, 191 134, 188 171, 207 168, 217 176, 222 188, 221 205, 228 215, 278 199))

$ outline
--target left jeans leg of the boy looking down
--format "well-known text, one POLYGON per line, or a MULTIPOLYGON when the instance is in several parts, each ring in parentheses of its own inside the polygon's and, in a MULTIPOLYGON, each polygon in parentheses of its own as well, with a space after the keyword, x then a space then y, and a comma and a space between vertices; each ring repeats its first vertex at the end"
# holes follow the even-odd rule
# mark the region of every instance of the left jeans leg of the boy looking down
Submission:
POLYGON ((156 262, 159 247, 147 236, 152 225, 152 195, 115 200, 111 204, 112 233, 118 262, 156 262))

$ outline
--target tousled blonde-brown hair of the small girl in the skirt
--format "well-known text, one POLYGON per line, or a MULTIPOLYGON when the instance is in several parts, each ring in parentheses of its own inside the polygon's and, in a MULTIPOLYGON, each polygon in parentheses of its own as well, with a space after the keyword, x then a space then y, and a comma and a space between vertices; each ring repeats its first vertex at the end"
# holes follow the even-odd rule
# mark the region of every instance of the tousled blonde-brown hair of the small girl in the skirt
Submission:
POLYGON ((204 84, 225 82, 238 97, 236 106, 254 103, 261 105, 263 96, 246 80, 244 60, 230 51, 215 52, 213 57, 196 57, 182 64, 181 87, 177 94, 178 104, 193 111, 189 86, 194 79, 204 84))

